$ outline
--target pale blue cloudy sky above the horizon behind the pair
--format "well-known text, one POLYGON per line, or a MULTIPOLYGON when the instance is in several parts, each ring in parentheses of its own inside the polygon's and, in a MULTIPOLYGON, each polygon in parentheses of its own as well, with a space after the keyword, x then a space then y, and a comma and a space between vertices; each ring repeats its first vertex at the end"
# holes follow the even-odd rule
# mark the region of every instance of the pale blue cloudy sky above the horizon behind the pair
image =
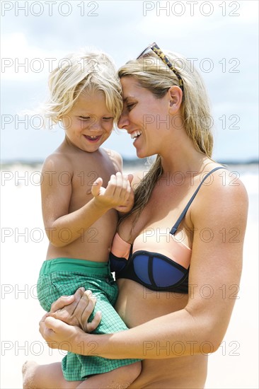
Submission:
MULTIPOLYGON (((117 67, 151 42, 183 54, 205 80, 217 161, 258 159, 258 1, 1 1, 1 161, 43 161, 64 139, 35 110, 69 52, 97 47, 117 67)), ((135 158, 129 135, 104 146, 135 158)))

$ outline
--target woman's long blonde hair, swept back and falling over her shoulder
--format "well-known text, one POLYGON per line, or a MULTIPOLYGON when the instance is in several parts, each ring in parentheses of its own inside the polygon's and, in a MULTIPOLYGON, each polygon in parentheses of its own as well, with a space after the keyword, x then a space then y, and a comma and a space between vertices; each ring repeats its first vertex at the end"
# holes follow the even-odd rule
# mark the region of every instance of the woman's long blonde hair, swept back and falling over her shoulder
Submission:
MULTIPOLYGON (((204 153, 208 158, 211 158, 213 147, 212 117, 209 110, 207 91, 202 78, 194 67, 191 66, 192 64, 188 63, 187 59, 180 54, 173 52, 164 53, 183 79, 181 115, 185 130, 190 139, 192 139, 196 149, 204 153)), ((178 77, 154 52, 149 52, 140 59, 127 62, 127 64, 120 67, 118 74, 120 79, 122 77, 132 77, 139 83, 139 86, 153 93, 156 98, 163 98, 171 86, 180 86, 178 77)), ((135 214, 132 228, 139 214, 149 201, 151 192, 162 173, 161 156, 158 155, 149 172, 134 191, 134 207, 130 212, 130 214, 135 214)), ((126 217, 122 217, 120 222, 126 217)))

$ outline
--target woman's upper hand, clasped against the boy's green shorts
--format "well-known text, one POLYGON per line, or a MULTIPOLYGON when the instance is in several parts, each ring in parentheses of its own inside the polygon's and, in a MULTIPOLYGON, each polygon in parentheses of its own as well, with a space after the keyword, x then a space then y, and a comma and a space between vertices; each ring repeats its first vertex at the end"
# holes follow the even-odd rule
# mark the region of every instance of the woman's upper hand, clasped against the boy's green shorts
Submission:
POLYGON ((98 311, 93 321, 88 323, 95 305, 96 298, 91 291, 84 291, 84 288, 79 288, 72 296, 59 297, 57 301, 52 303, 50 313, 47 313, 43 318, 51 316, 69 325, 79 327, 84 332, 92 332, 98 327, 101 319, 101 313, 98 311))

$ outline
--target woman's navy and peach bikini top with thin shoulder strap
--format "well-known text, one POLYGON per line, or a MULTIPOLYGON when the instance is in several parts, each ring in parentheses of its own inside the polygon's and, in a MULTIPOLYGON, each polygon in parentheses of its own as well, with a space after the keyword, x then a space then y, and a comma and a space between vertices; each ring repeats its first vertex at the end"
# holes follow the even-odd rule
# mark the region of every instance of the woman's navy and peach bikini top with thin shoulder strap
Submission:
POLYGON ((115 272, 116 279, 132 279, 153 291, 188 294, 192 250, 175 238, 175 232, 202 183, 215 170, 222 168, 214 168, 205 175, 170 231, 169 228, 157 228, 157 231, 145 228, 145 232, 137 236, 132 244, 122 240, 118 233, 115 234, 110 250, 110 269, 115 272), (159 232, 159 237, 156 232, 159 232))

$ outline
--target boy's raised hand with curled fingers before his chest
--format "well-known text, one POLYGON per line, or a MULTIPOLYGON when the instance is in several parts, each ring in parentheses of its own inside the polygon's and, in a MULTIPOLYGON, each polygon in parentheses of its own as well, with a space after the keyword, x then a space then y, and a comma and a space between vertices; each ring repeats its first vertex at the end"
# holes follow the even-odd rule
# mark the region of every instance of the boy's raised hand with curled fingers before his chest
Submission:
MULTIPOLYGON (((130 177, 131 181, 132 178, 130 177)), ((125 211, 126 208, 128 209, 130 207, 131 209, 132 207, 133 190, 130 182, 126 174, 122 175, 122 173, 117 172, 116 175, 110 176, 110 181, 108 182, 106 189, 102 187, 102 178, 97 178, 97 180, 93 182, 91 192, 95 197, 96 202, 98 202, 98 206, 107 209, 122 207, 125 211)))

